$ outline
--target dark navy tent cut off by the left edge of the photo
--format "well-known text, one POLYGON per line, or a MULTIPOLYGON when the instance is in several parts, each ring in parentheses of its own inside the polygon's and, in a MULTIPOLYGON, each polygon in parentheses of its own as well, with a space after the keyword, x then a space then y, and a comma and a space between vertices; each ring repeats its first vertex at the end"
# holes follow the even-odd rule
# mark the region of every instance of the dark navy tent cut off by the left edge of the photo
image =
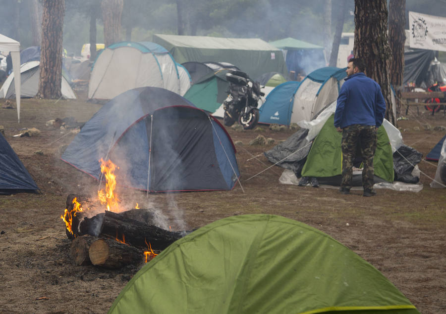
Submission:
POLYGON ((34 192, 37 189, 36 182, 0 133, 0 194, 34 192))

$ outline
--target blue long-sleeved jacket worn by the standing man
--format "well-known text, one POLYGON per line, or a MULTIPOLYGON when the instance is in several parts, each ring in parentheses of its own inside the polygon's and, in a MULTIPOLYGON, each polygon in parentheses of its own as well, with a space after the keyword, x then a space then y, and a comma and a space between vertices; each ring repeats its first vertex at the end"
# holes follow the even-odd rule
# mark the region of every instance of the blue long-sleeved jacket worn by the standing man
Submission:
POLYGON ((345 79, 337 97, 335 127, 352 124, 381 126, 386 113, 386 102, 381 87, 363 72, 345 79))

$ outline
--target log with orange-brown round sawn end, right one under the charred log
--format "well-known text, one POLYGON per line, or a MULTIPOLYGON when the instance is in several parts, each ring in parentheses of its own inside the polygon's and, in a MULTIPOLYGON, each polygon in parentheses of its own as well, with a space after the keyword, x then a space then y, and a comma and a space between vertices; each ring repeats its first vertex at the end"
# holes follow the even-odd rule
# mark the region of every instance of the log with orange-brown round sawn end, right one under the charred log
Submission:
POLYGON ((142 250, 107 238, 93 241, 88 249, 88 256, 93 265, 108 269, 117 269, 144 260, 142 250))

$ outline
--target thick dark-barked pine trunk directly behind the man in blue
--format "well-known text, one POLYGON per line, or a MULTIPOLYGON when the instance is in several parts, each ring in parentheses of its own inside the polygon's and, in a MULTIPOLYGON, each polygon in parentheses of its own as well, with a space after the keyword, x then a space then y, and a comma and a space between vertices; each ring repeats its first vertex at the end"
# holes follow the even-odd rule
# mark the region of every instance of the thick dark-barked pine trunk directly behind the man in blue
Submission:
POLYGON ((381 86, 387 105, 385 118, 395 125, 390 89, 392 55, 387 19, 387 0, 355 0, 355 57, 364 60, 365 74, 381 86))

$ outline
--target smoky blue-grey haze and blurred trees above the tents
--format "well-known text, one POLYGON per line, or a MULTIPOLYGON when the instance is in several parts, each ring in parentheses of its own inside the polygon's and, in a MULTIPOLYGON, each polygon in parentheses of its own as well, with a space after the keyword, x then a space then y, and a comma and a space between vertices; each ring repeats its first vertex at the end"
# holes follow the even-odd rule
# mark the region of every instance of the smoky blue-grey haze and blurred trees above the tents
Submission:
MULTIPOLYGON (((182 12, 181 35, 260 38, 267 42, 292 37, 329 51, 342 1, 124 0, 121 39, 150 42, 156 33, 178 34, 177 2, 182 12)), ((38 31, 32 26, 36 3, 41 13, 41 0, 0 0, 0 33, 19 41, 21 49, 40 45, 38 31)), ((354 0, 346 0, 346 4, 342 31, 354 32, 354 0)), ((99 5, 100 0, 65 1, 63 47, 68 54, 80 56, 82 45, 90 42, 91 16, 99 5)), ((405 11, 408 29, 408 11, 446 17, 446 0, 406 0, 405 11)), ((100 12, 96 15, 96 43, 104 43, 100 12)), ((440 52, 439 58, 444 61, 445 53, 440 52)))

